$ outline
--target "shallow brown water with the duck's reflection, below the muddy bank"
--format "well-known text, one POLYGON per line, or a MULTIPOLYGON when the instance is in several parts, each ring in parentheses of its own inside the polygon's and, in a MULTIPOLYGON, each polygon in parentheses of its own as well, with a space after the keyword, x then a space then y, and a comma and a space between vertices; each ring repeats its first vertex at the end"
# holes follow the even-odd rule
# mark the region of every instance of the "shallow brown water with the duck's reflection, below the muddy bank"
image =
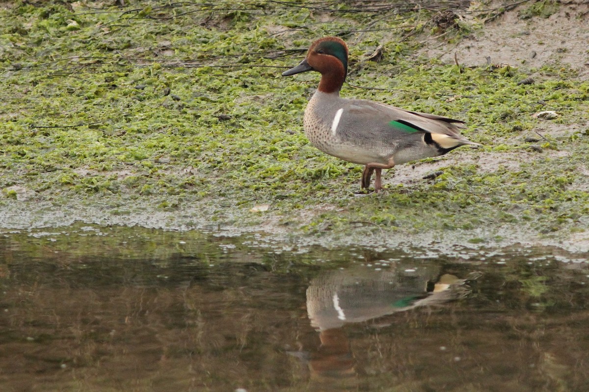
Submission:
POLYGON ((589 260, 0 234, 2 391, 589 390, 589 260))

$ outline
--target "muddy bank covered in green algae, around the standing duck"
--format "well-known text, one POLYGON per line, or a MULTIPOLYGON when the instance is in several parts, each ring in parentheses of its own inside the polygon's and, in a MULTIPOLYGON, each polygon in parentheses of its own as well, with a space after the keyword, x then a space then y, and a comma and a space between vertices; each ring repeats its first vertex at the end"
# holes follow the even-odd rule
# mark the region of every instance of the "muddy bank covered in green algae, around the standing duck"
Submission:
POLYGON ((0 5, 4 230, 589 248, 587 4, 114 3, 0 5), (318 75, 280 76, 324 35, 350 46, 343 96, 465 120, 482 148, 356 195, 362 167, 302 132, 318 75))

